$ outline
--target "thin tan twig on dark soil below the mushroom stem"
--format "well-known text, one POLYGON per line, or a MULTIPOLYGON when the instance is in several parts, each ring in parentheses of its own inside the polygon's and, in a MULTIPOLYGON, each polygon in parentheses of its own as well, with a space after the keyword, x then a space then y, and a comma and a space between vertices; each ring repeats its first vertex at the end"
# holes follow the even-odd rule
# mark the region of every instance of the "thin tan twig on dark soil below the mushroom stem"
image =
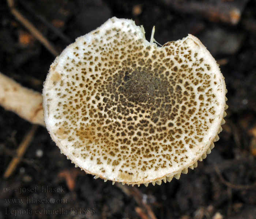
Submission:
POLYGON ((12 158, 10 164, 8 165, 7 169, 4 172, 4 178, 8 178, 11 176, 11 174, 14 172, 16 169, 16 166, 20 162, 20 158, 25 154, 27 148, 29 147, 30 142, 32 141, 35 131, 37 130, 38 125, 33 125, 29 132, 25 135, 25 137, 22 139, 18 149, 16 150, 17 156, 12 158))

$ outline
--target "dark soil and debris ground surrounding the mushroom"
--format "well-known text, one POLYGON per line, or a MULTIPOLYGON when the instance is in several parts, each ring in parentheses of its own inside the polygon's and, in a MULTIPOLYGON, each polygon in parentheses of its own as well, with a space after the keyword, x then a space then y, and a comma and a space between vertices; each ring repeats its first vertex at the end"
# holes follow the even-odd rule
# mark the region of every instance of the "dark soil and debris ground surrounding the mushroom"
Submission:
MULTIPOLYGON (((195 170, 161 186, 122 187, 74 168, 39 127, 11 176, 3 174, 31 124, 0 107, 0 218, 256 218, 256 1, 255 0, 16 0, 15 8, 60 53, 76 37, 108 18, 143 25, 160 44, 198 37, 218 61, 227 85, 226 124, 215 149, 195 170), (50 26, 52 26, 52 29, 50 26), (62 35, 56 34, 56 30, 62 35), (10 186, 11 192, 4 189, 10 186), (31 188, 38 186, 36 192, 31 188), (64 188, 42 193, 42 186, 64 188), (19 194, 19 189, 26 189, 19 194), (17 191, 14 191, 17 189, 17 191), (67 204, 6 203, 5 199, 66 199, 67 204), (68 215, 29 215, 25 210, 67 210, 68 215), (71 215, 71 208, 77 212, 71 215), (79 212, 80 208, 85 208, 79 212), (22 211, 23 210, 23 211, 22 211)), ((52 55, 0 3, 0 71, 42 91, 52 55)), ((48 212, 49 213, 49 212, 48 212)), ((61 212, 60 212, 61 213, 61 212)), ((73 212, 74 213, 74 212, 73 212)))

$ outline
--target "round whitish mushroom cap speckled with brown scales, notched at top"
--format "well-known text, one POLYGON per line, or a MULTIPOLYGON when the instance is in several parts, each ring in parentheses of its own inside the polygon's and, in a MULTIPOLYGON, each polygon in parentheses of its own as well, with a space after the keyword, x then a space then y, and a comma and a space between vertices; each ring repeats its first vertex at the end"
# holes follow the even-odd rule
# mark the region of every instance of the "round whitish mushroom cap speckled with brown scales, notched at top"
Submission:
POLYGON ((55 59, 44 83, 46 127, 85 172, 127 184, 179 178, 210 153, 225 81, 192 35, 162 47, 111 18, 55 59))

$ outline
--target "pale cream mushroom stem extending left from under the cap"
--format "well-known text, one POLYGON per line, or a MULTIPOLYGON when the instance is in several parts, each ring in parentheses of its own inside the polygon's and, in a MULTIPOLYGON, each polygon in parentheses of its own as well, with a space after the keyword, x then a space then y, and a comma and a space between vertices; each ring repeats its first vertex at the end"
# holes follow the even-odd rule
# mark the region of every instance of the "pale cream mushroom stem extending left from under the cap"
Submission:
POLYGON ((0 105, 31 123, 45 126, 41 93, 22 87, 1 72, 0 105))

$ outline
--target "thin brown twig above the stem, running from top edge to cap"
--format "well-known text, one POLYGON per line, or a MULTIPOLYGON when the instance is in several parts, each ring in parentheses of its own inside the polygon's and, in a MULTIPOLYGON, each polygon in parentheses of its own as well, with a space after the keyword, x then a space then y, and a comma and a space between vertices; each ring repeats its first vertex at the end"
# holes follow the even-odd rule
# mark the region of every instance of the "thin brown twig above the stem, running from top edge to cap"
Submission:
POLYGON ((54 48, 54 46, 44 37, 44 35, 37 30, 37 28, 30 23, 29 20, 27 20, 15 7, 14 7, 14 1, 13 0, 7 0, 8 6, 10 7, 11 13, 15 16, 17 20, 19 20, 20 23, 22 23, 27 30, 34 35, 35 38, 38 39, 39 42, 41 42, 46 49, 50 53, 52 53, 54 56, 58 56, 59 52, 54 48))

